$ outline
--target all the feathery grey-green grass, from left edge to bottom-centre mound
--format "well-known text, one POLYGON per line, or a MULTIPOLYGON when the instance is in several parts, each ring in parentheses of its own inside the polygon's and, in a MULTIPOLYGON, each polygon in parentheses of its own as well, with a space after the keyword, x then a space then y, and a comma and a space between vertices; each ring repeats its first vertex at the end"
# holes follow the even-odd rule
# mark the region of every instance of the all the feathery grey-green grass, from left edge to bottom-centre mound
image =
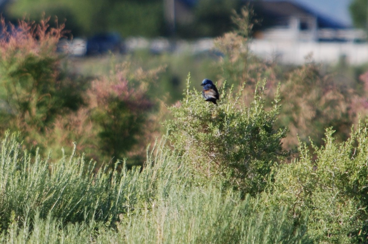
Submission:
POLYGON ((157 143, 148 162, 121 172, 85 167, 82 156, 50 163, 22 149, 18 134, 1 140, 1 243, 298 243, 285 208, 193 184, 185 165, 157 143), (278 233, 278 234, 275 234, 278 233))

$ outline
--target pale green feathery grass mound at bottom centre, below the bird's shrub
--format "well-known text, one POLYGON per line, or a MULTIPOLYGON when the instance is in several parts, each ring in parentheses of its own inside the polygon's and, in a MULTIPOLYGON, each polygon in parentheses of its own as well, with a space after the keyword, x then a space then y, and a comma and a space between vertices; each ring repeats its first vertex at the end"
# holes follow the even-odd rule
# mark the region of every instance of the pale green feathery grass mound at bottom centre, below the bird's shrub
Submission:
POLYGON ((287 211, 257 211, 249 197, 216 187, 174 189, 149 212, 128 218, 118 229, 127 243, 298 243, 305 226, 293 232, 287 211))

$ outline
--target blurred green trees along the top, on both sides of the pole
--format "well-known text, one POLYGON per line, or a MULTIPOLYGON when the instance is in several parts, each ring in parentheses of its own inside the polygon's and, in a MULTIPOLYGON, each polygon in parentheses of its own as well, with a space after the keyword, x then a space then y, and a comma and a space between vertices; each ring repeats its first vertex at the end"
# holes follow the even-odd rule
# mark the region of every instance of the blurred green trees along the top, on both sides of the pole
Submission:
MULTIPOLYGON (((178 0, 177 0, 178 1, 178 0)), ((6 17, 39 20, 57 16, 75 36, 116 31, 121 36, 167 35, 163 0, 18 0, 10 1, 6 17)), ((241 0, 201 0, 191 8, 194 20, 178 24, 176 34, 184 38, 219 36, 230 31, 231 13, 241 0)))

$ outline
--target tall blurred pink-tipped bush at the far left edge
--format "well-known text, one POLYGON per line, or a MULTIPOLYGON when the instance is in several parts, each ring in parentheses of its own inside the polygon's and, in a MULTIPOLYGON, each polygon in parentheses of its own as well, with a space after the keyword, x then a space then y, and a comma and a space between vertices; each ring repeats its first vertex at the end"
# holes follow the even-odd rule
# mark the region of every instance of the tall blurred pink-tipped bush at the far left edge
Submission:
POLYGON ((48 20, 15 27, 1 19, 0 40, 0 134, 21 131, 28 149, 39 147, 44 156, 55 119, 83 104, 86 83, 67 76, 56 52, 64 25, 52 28, 48 20))

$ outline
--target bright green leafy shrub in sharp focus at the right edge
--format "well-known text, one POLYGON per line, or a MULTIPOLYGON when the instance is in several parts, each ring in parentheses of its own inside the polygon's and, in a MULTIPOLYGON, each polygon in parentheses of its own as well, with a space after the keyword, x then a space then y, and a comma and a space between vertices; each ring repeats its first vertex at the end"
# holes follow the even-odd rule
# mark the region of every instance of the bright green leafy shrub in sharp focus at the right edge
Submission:
POLYGON ((316 243, 368 238, 367 130, 367 124, 359 124, 346 142, 338 143, 328 129, 325 146, 313 144, 315 154, 301 143, 298 160, 275 168, 269 204, 288 206, 296 221, 308 217, 308 233, 316 243))

